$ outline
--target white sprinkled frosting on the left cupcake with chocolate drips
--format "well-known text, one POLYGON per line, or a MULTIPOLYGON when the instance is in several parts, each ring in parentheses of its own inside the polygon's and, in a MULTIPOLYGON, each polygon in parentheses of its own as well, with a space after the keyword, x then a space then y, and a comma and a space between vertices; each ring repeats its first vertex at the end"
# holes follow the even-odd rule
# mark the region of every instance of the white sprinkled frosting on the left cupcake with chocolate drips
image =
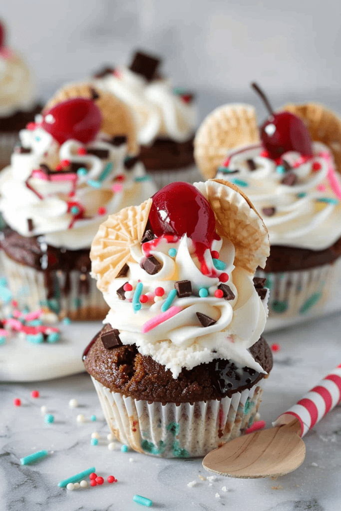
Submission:
POLYGON ((87 145, 69 140, 61 146, 39 124, 34 130, 20 131, 19 136, 22 146, 31 152, 13 153, 11 166, 2 172, 0 211, 22 236, 45 235, 46 243, 55 247, 86 248, 103 218, 156 192, 140 161, 131 170, 125 168, 127 145, 103 142, 104 133, 87 145), (108 157, 78 154, 82 149, 104 149, 108 157), (58 180, 57 174, 52 174, 48 179, 39 168, 46 164, 55 169, 63 160, 86 166, 86 175, 70 172, 69 178, 58 180), (82 218, 71 211, 72 206, 78 207, 82 218), (105 209, 100 213, 99 208, 105 209), (32 230, 28 219, 32 220, 32 230))

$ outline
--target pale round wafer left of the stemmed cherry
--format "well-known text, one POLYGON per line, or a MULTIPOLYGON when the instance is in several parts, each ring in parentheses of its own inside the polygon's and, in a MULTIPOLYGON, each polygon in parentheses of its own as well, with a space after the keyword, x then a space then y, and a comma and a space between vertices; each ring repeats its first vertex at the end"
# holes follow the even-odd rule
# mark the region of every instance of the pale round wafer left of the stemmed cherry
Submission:
POLYGON ((211 112, 195 135, 194 158, 207 179, 216 175, 226 153, 259 142, 256 111, 251 105, 223 105, 211 112))

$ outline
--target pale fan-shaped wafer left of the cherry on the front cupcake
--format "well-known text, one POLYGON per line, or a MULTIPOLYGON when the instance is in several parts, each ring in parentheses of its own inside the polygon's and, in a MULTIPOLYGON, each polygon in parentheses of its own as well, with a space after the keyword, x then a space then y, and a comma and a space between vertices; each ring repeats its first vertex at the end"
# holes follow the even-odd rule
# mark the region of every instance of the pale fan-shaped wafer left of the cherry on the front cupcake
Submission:
POLYGON ((105 292, 124 265, 135 262, 130 247, 140 243, 147 225, 152 199, 140 206, 124 208, 100 225, 91 246, 92 273, 97 287, 105 292))

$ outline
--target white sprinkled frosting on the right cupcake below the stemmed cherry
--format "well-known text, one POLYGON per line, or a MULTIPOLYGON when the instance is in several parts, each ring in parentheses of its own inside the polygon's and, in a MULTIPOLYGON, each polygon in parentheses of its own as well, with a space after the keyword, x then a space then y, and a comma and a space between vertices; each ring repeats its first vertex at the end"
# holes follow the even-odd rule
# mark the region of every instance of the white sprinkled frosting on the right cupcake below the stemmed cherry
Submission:
POLYGON ((341 236, 341 179, 330 150, 314 143, 314 156, 308 161, 296 152, 283 154, 293 167, 289 172, 297 176, 292 186, 281 182, 288 174, 281 173, 281 164, 262 152, 259 144, 231 151, 216 177, 237 184, 248 196, 263 217, 271 245, 312 250, 333 245, 341 236), (248 159, 255 162, 255 170, 250 170, 248 159), (272 207, 274 214, 267 216, 264 208, 272 207))

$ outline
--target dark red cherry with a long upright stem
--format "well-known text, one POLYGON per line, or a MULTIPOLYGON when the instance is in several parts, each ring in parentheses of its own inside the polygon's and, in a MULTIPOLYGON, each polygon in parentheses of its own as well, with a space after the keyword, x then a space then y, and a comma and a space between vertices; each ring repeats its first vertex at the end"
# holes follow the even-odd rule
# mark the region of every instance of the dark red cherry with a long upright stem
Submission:
POLYGON ((270 115, 261 126, 263 146, 270 158, 277 160, 287 151, 297 151, 312 157, 312 143, 304 122, 290 112, 274 112, 264 92, 256 83, 251 84, 262 98, 270 115))

